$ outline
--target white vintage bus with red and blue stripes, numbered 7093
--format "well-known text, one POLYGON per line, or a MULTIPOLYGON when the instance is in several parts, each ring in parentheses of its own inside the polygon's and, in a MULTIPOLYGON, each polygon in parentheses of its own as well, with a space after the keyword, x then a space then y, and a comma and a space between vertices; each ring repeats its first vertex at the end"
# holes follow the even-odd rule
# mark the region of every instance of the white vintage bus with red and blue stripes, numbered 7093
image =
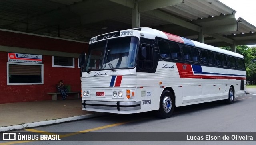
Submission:
POLYGON ((245 94, 244 57, 147 27, 90 39, 80 59, 82 110, 132 114, 245 94))

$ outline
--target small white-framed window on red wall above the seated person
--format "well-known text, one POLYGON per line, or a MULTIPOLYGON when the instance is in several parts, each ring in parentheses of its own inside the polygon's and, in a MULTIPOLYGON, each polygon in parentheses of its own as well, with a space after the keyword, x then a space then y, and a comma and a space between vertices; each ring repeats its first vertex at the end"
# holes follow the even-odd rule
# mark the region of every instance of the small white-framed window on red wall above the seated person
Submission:
POLYGON ((52 57, 52 67, 75 67, 75 59, 72 57, 52 57))

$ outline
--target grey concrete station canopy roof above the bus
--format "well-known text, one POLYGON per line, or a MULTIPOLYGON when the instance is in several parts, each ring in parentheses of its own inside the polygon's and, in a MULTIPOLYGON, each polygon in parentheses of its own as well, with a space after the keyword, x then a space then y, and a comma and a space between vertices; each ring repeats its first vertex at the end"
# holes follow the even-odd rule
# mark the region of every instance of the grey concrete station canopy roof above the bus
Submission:
POLYGON ((218 0, 0 0, 0 29, 88 42, 151 27, 216 47, 256 44, 256 27, 218 0))

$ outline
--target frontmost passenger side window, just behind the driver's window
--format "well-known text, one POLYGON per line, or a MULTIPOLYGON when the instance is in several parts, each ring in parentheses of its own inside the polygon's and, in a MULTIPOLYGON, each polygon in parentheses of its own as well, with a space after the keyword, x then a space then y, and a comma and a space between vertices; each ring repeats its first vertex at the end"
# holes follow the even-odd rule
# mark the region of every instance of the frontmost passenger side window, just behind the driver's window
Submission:
POLYGON ((180 59, 180 47, 178 44, 167 41, 158 41, 158 47, 161 57, 180 59))

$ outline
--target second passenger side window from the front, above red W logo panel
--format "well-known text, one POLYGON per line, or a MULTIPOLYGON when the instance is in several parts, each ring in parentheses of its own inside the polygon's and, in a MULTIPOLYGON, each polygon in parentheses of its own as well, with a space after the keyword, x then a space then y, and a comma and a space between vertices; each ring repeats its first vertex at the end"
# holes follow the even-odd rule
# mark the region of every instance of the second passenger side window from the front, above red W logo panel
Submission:
POLYGON ((198 60, 199 60, 198 49, 193 48, 193 47, 183 46, 182 50, 183 50, 183 54, 184 54, 184 59, 186 61, 198 62, 198 60))

